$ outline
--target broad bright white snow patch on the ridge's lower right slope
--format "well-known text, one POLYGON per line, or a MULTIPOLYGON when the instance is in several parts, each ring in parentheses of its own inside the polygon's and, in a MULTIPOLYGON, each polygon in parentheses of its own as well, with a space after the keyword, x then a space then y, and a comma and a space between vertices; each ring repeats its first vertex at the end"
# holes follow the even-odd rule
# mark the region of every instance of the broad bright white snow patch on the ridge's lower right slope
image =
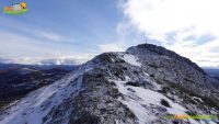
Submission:
MULTIPOLYGON (((141 87, 132 87, 125 84, 127 81, 110 80, 116 83, 118 91, 125 95, 125 100, 118 99, 122 103, 126 104, 130 111, 138 117, 139 124, 151 123, 154 120, 160 120, 161 115, 154 115, 150 108, 157 106, 166 110, 166 114, 186 114, 186 109, 178 103, 174 103, 171 99, 166 98, 162 93, 153 90, 145 89, 141 87), (161 104, 161 100, 165 100, 171 108, 161 104), (146 109, 143 105, 146 105, 146 109)), ((188 120, 192 124, 199 124, 194 120, 188 120)), ((200 121, 203 122, 203 121, 200 121)), ((214 122, 211 122, 215 124, 214 122)))

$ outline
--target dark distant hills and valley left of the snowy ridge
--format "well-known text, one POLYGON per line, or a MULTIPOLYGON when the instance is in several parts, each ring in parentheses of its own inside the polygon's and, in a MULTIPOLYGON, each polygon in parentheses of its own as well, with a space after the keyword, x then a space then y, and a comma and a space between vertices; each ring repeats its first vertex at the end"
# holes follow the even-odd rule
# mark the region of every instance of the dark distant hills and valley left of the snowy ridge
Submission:
POLYGON ((0 108, 59 80, 76 68, 73 65, 0 64, 0 108))

